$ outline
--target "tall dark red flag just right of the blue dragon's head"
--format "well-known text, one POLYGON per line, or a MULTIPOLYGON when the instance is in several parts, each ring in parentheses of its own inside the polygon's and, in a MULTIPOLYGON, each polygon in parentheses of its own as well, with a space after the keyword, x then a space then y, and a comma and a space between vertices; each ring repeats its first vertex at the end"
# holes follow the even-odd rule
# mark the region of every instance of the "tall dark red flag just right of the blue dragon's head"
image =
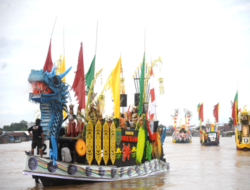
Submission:
POLYGON ((79 51, 77 70, 75 73, 76 75, 72 85, 72 89, 75 91, 75 96, 77 97, 79 103, 79 110, 81 110, 85 108, 85 78, 82 43, 79 51))

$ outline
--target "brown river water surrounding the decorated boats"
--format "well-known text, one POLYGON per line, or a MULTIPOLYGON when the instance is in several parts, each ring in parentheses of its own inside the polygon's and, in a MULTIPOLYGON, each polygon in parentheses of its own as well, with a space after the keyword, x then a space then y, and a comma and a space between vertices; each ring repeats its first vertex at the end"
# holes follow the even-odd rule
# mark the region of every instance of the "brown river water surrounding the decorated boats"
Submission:
MULTIPOLYGON (((164 142, 170 171, 116 182, 88 183, 44 189, 250 189, 250 151, 237 151, 234 138, 223 137, 219 146, 205 147, 194 137, 190 144, 164 142)), ((0 189, 43 189, 23 175, 25 150, 30 142, 0 144, 0 189)))

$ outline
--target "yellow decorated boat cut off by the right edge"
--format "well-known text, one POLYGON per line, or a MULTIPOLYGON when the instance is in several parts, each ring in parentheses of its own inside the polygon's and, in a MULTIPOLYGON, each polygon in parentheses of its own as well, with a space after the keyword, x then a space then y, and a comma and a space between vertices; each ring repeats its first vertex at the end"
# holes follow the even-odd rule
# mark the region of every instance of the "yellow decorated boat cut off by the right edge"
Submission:
POLYGON ((249 122, 250 114, 246 106, 244 106, 243 110, 238 114, 238 125, 235 126, 235 140, 238 150, 250 150, 249 122))

